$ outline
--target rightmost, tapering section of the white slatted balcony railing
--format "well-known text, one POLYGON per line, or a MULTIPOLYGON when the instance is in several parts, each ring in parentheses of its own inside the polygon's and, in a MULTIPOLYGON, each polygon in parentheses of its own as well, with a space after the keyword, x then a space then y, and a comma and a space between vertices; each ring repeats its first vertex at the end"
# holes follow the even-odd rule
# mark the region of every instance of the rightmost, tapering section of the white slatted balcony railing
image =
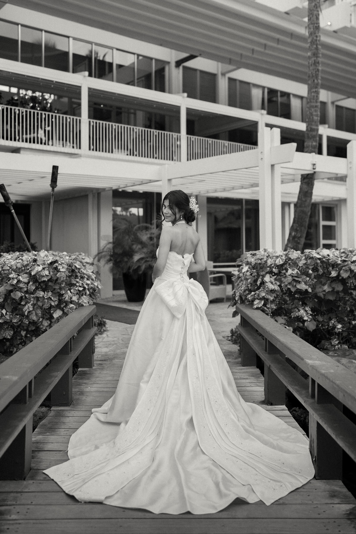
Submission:
POLYGON ((188 161, 211 158, 212 156, 222 156, 224 154, 234 154, 235 152, 244 152, 253 148, 256 148, 256 146, 187 135, 188 161))

